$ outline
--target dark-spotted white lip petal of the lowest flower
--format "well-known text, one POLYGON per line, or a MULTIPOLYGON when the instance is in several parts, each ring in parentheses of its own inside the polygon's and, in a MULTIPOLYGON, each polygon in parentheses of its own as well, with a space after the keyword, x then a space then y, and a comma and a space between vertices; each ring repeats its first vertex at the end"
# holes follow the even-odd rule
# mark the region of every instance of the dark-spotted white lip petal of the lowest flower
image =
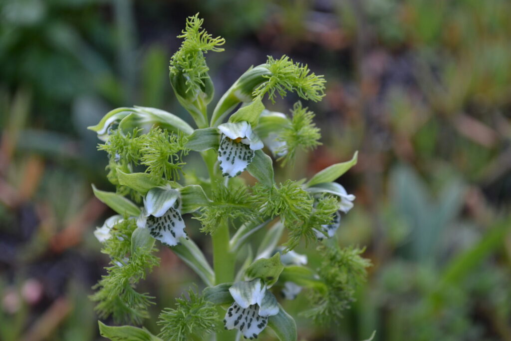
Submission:
POLYGON ((225 313, 225 328, 239 329, 249 339, 257 338, 267 324, 268 317, 259 316, 259 307, 255 304, 242 308, 235 302, 225 313))

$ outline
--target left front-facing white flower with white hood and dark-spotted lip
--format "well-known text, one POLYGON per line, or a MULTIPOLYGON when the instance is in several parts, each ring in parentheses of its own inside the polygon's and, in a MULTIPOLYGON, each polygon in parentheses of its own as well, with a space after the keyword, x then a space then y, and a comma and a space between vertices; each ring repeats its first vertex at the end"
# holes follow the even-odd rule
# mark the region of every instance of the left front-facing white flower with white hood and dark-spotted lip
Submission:
POLYGON ((153 238, 168 246, 177 245, 180 237, 188 239, 180 213, 179 192, 170 186, 155 187, 147 192, 136 224, 148 228, 153 238))

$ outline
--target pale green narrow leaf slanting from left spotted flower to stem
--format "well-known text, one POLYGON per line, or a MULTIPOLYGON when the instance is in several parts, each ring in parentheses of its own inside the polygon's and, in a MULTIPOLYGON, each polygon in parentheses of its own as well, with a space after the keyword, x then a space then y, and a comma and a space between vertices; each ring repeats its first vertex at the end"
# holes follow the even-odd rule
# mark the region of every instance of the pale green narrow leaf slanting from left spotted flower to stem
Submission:
POLYGON ((190 266, 206 285, 212 286, 215 284, 215 272, 199 247, 191 239, 181 238, 179 243, 171 247, 172 251, 190 266))

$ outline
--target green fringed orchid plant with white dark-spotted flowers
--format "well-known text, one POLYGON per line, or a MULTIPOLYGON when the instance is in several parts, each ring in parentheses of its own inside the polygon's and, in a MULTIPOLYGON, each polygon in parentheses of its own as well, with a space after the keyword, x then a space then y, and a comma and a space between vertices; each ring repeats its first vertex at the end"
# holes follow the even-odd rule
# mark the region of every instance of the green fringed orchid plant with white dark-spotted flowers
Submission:
POLYGON ((154 297, 136 285, 158 266, 162 247, 170 247, 203 283, 161 311, 158 335, 101 322, 100 331, 112 340, 228 341, 272 329, 281 340, 296 340, 294 319, 277 296, 292 300, 307 292, 311 304, 303 314, 328 324, 340 319, 365 279, 369 263, 362 250, 332 240, 355 199, 334 181, 355 165, 357 154, 309 180, 276 183, 274 163, 291 167, 298 148, 320 144, 314 113, 304 103, 321 100, 325 80, 287 56, 268 57, 208 111, 214 87, 205 54, 222 51, 224 39, 201 25, 198 15, 188 18, 170 60, 174 94, 196 128, 148 107, 114 109, 89 127, 108 153, 107 176, 117 188, 113 193, 93 186, 94 193, 118 213, 95 232, 111 261, 91 299, 101 318, 143 324, 154 297), (263 99, 273 103, 288 93, 304 101, 290 108, 291 115, 265 108, 263 99), (208 178, 183 172, 191 153, 200 154, 208 178), (239 177, 245 171, 255 185, 239 177), (213 266, 188 237, 190 217, 211 236, 213 266), (254 234, 263 231, 261 244, 254 245, 254 234), (319 267, 308 267, 307 257, 293 251, 300 242, 315 245, 319 267))

